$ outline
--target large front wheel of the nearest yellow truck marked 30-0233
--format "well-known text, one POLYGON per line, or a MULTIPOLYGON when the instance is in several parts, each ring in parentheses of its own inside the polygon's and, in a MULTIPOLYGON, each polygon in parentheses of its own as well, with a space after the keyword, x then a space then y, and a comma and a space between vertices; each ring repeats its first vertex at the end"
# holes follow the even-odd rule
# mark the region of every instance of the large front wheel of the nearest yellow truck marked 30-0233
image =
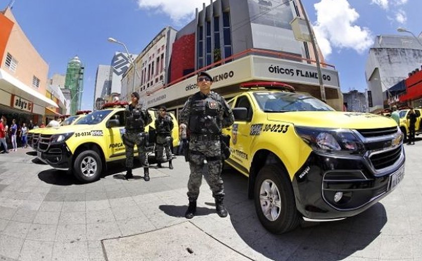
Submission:
POLYGON ((259 171, 254 198, 258 218, 271 233, 281 234, 299 224, 293 189, 280 165, 266 165, 259 171))

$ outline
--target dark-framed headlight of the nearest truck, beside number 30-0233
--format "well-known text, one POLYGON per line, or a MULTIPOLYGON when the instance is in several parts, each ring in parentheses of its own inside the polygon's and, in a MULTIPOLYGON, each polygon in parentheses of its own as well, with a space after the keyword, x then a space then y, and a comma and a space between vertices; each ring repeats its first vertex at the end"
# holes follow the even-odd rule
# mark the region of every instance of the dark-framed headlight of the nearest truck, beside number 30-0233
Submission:
POLYGON ((316 152, 357 155, 365 153, 363 143, 348 129, 300 126, 294 128, 300 138, 316 152))

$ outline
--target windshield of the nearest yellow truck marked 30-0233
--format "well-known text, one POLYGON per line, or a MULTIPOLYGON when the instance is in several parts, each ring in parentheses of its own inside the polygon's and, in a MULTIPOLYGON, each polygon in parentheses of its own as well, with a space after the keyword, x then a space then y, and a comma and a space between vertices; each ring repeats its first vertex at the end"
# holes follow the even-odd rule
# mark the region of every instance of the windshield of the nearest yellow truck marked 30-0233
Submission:
POLYGON ((265 112, 334 110, 323 101, 300 93, 254 92, 254 96, 265 112))

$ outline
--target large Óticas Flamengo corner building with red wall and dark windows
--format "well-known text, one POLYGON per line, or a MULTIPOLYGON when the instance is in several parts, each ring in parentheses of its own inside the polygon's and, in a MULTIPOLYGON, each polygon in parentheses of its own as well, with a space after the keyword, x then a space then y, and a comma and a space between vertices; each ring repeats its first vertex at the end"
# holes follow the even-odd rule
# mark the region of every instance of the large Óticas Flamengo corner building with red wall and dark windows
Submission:
POLYGON ((310 44, 294 38, 290 22, 303 17, 299 7, 296 1, 275 0, 217 0, 203 5, 176 34, 165 68, 170 72, 167 83, 141 92, 145 104, 165 104, 177 114, 186 98, 198 91, 196 72, 207 70, 214 77, 213 89, 226 98, 239 92, 240 83, 281 81, 298 92, 318 98, 324 94, 328 104, 341 110, 334 66, 324 63, 319 51, 324 83, 320 88, 310 44))

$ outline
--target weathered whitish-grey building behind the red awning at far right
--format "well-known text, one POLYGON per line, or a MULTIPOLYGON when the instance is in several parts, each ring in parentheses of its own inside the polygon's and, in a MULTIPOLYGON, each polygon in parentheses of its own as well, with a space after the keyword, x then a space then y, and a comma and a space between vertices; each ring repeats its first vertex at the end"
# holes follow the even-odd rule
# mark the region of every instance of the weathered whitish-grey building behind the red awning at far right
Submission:
MULTIPOLYGON (((422 41, 422 38, 420 38, 422 41)), ((368 86, 369 111, 390 106, 390 88, 408 77, 422 64, 422 45, 412 36, 380 35, 369 49, 365 78, 368 86)))

